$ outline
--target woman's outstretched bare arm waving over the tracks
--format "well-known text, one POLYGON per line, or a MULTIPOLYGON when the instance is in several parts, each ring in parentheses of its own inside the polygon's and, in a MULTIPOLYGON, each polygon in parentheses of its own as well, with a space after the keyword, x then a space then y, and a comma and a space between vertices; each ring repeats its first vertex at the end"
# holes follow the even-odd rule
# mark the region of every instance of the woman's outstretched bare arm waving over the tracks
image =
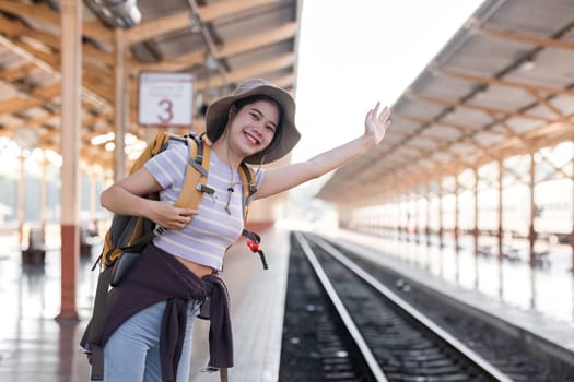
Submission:
POLYGON ((375 147, 383 140, 390 124, 389 109, 385 107, 378 112, 378 107, 379 104, 377 103, 375 108, 366 114, 365 132, 362 136, 319 154, 307 162, 268 169, 256 193, 256 199, 271 196, 307 180, 318 178, 375 147))

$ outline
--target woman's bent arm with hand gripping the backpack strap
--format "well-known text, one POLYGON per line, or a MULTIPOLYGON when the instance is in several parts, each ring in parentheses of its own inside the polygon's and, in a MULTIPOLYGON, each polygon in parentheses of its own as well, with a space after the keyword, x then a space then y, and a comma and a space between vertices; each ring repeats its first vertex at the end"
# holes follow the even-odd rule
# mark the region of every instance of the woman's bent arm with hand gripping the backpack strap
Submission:
POLYGON ((178 208, 174 206, 174 202, 141 196, 161 190, 162 187, 150 171, 141 168, 104 190, 101 202, 105 208, 116 214, 143 216, 168 229, 185 227, 197 215, 196 210, 178 208))

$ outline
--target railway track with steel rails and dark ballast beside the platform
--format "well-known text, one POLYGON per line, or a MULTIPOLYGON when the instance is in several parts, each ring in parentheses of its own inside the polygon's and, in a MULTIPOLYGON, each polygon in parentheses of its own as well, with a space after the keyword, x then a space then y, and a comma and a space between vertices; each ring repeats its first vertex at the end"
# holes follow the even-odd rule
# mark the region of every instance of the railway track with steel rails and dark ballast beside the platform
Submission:
POLYGON ((513 351, 480 355, 475 342, 401 298, 396 277, 385 286, 372 265, 358 265, 318 237, 297 232, 291 240, 281 381, 569 381, 511 359, 513 351))

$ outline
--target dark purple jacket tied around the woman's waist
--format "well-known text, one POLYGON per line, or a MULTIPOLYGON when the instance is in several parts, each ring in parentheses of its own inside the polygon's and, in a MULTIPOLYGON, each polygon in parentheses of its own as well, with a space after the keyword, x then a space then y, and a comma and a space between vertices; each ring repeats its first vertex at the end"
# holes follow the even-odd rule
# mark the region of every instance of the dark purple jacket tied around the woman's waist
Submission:
POLYGON ((213 368, 233 367, 233 337, 225 283, 218 275, 197 277, 169 253, 149 244, 126 278, 109 293, 101 345, 140 310, 167 300, 160 353, 162 379, 174 381, 186 331, 189 300, 210 298, 210 361, 213 368))

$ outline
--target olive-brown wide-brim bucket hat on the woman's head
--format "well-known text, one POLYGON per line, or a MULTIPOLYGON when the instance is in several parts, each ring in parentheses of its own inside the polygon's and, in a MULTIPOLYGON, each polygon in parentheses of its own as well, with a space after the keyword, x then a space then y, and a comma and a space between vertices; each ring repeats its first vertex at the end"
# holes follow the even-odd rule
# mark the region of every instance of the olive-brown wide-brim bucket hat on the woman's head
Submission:
POLYGON ((206 133, 211 142, 215 142, 227 123, 230 107, 238 99, 255 95, 273 98, 281 106, 281 121, 277 136, 266 150, 244 159, 247 164, 258 165, 271 163, 289 154, 301 139, 295 127, 295 100, 286 91, 276 86, 265 79, 246 80, 237 85, 232 95, 214 100, 206 111, 206 133))

